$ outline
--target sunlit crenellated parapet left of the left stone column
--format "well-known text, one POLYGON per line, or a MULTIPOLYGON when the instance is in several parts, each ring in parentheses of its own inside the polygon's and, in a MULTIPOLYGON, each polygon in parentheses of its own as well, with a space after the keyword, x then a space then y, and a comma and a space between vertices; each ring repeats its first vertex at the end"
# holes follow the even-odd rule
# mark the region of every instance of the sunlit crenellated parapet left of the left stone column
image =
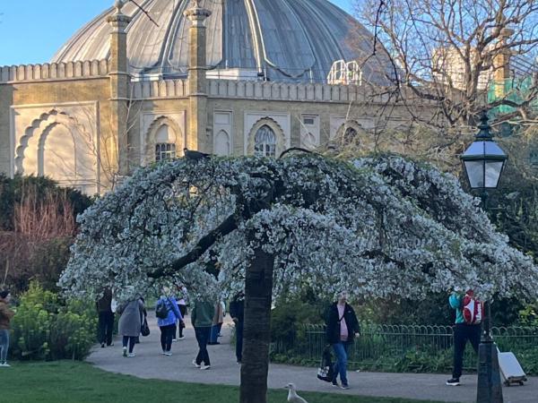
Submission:
POLYGON ((108 60, 85 62, 21 64, 0 67, 0 82, 54 81, 108 74, 108 60))

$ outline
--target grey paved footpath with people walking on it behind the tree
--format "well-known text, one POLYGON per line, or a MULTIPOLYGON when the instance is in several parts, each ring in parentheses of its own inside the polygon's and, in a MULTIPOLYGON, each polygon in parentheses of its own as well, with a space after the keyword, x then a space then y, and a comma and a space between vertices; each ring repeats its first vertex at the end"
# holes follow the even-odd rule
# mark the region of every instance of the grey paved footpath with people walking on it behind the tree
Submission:
MULTIPOLYGON (((236 364, 235 349, 230 345, 231 322, 229 315, 222 326, 221 342, 208 346, 211 369, 201 371, 192 364, 198 351, 195 331, 187 316, 186 338, 172 345, 172 356, 161 355, 161 331, 153 312, 148 312, 150 336, 140 338, 141 343, 134 348, 134 358, 122 356, 121 340, 115 346, 92 349, 87 361, 100 369, 112 373, 124 373, 144 379, 162 379, 177 382, 211 383, 239 386, 240 366, 236 364)), ((446 402, 476 401, 476 375, 464 375, 461 386, 447 386, 447 374, 430 373, 364 373, 350 372, 350 390, 332 387, 318 381, 316 368, 271 364, 268 387, 281 389, 293 382, 299 390, 328 392, 337 394, 375 396, 386 398, 425 399, 446 402)), ((530 377, 525 386, 503 387, 505 403, 538 402, 538 377, 530 377)))

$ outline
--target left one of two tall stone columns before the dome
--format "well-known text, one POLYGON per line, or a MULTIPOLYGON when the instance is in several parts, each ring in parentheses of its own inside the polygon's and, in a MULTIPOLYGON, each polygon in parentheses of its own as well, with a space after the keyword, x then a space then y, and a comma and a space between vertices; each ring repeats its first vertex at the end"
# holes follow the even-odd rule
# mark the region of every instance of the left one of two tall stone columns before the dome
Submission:
MULTIPOLYGON (((112 27, 110 33, 110 132, 111 137, 117 140, 117 175, 126 176, 129 172, 129 138, 127 133, 127 121, 129 116, 129 85, 131 76, 128 73, 129 63, 127 59, 127 34, 126 27, 131 17, 121 13, 124 5, 122 0, 114 4, 116 13, 107 18, 112 27)), ((109 146, 109 145, 106 145, 109 146)), ((111 157, 112 158, 112 157, 111 157)))

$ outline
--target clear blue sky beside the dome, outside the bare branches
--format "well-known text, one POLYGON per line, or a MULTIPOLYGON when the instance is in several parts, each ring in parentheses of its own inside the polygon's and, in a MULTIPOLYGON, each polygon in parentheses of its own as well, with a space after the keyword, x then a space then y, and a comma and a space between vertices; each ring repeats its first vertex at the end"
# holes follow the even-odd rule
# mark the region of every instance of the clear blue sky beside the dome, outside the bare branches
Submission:
MULTIPOLYGON (((329 0, 351 13, 351 0, 329 0)), ((47 63, 113 0, 0 0, 0 65, 47 63)))

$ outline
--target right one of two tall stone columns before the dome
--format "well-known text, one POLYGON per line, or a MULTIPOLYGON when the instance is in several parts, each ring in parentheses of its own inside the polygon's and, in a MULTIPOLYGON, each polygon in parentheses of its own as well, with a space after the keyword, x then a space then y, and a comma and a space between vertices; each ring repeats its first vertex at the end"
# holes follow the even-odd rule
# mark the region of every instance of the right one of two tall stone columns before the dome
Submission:
POLYGON ((206 135, 207 127, 207 71, 206 61, 206 35, 205 20, 211 15, 200 5, 200 0, 195 0, 195 5, 185 12, 185 16, 191 21, 189 29, 189 58, 188 58, 188 133, 187 148, 189 150, 201 150, 212 152, 206 135))

